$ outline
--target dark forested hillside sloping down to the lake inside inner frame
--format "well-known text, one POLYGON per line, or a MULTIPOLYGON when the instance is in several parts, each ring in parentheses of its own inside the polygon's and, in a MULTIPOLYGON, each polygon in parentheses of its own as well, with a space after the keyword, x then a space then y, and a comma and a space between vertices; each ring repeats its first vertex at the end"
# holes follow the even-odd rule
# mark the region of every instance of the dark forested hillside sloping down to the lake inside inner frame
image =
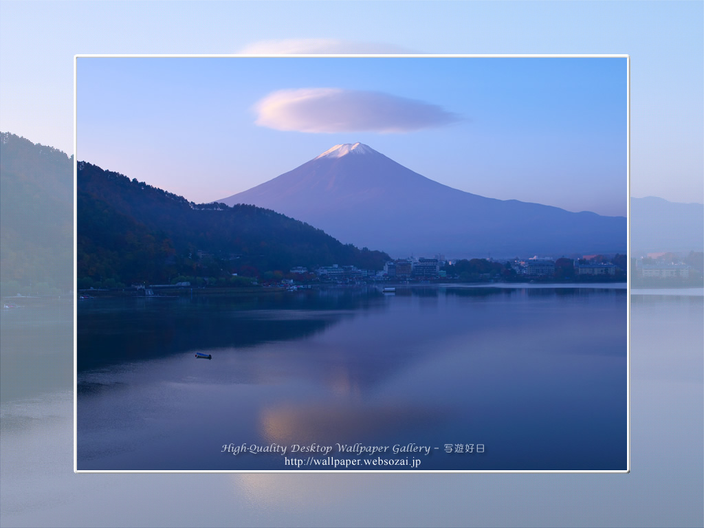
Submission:
MULTIPOLYGON (((382 269, 389 256, 357 249, 256 206, 196 205, 86 162, 77 173, 78 287, 259 277, 294 266, 382 269)), ((244 282, 244 279, 240 279, 244 282)), ((246 281, 249 284, 249 281, 246 281)))

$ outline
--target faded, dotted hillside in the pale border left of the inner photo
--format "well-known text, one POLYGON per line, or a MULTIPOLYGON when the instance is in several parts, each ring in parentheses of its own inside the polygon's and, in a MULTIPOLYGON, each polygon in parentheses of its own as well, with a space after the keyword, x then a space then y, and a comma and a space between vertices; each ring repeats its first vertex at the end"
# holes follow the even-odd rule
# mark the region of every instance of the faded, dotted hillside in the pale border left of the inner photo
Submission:
POLYGON ((0 186, 0 294, 70 306, 73 157, 0 132, 0 186))

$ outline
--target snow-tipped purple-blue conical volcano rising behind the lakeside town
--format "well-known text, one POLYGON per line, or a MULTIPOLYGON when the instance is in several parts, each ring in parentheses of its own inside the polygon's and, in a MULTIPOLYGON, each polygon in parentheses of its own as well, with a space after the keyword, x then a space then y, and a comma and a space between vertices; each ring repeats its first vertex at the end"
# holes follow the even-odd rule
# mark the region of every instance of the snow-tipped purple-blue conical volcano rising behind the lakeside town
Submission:
POLYGON ((345 244, 394 257, 561 256, 627 249, 624 217, 460 191, 361 143, 333 146, 294 170, 218 201, 273 209, 345 244))

